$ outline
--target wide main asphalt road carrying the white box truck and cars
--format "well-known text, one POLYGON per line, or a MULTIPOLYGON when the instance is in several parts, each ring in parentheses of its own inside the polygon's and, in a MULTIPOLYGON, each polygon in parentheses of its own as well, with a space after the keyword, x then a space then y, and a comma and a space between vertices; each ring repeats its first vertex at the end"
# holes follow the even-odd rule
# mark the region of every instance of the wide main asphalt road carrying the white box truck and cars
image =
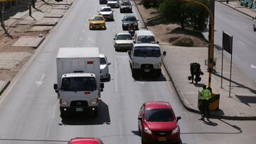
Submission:
MULTIPOLYGON (((106 31, 89 31, 87 19, 97 14, 99 7, 95 0, 75 1, 26 69, 1 96, 0 143, 67 143, 75 137, 97 137, 105 144, 140 143, 137 114, 145 101, 171 103, 176 116, 181 116, 182 143, 255 143, 255 121, 198 121, 198 114, 183 109, 166 72, 159 79, 134 81, 127 52, 115 52, 112 40, 115 33, 122 32, 120 20, 124 14, 114 9, 115 21, 107 22, 106 31), (112 62, 112 79, 105 83, 97 118, 60 118, 53 91, 55 57, 60 47, 99 47, 112 62)), ((143 27, 142 18, 138 18, 143 27)))

